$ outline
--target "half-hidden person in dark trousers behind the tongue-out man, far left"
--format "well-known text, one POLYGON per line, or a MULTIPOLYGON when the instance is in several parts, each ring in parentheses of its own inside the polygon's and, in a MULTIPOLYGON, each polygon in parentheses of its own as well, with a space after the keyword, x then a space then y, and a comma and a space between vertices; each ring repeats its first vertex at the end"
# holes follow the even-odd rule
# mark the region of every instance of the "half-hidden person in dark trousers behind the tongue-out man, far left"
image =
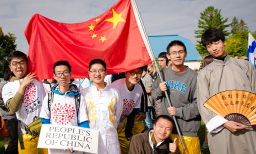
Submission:
MULTIPOLYGON (((13 76, 10 68, 7 67, 3 74, 4 81, 9 82, 13 76)), ((4 146, 6 147, 6 152, 4 152, 4 154, 18 154, 18 120, 15 113, 9 112, 4 105, 2 98, 2 88, 4 84, 6 83, 0 83, 0 114, 9 133, 9 136, 4 138, 4 146)))

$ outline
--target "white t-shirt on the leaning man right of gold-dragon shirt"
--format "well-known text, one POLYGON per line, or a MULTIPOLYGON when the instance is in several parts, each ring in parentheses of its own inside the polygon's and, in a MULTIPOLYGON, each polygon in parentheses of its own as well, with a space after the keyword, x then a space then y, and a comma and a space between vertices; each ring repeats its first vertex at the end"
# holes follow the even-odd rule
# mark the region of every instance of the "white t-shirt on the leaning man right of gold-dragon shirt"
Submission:
POLYGON ((126 85, 126 78, 118 79, 111 84, 111 87, 114 87, 119 91, 123 101, 123 112, 119 123, 122 124, 123 119, 128 117, 133 109, 140 108, 140 101, 143 90, 139 84, 135 84, 132 91, 128 90, 126 85))

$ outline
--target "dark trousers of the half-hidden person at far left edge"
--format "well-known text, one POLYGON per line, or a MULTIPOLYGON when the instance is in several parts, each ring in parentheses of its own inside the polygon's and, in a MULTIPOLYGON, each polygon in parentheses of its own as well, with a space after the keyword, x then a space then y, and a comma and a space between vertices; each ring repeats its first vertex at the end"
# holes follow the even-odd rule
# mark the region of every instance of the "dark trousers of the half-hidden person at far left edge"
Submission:
POLYGON ((18 154, 18 120, 16 118, 13 119, 4 119, 4 123, 6 124, 6 128, 9 132, 10 142, 6 149, 5 154, 18 154))

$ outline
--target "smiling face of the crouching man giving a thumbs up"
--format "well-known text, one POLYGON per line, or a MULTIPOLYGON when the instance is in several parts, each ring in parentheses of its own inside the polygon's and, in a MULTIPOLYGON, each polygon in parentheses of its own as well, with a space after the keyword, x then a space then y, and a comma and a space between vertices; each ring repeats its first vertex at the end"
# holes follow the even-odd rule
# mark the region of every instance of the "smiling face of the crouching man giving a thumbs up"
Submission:
POLYGON ((154 134, 156 142, 167 139, 173 129, 173 123, 164 118, 159 118, 159 120, 154 124, 154 134))

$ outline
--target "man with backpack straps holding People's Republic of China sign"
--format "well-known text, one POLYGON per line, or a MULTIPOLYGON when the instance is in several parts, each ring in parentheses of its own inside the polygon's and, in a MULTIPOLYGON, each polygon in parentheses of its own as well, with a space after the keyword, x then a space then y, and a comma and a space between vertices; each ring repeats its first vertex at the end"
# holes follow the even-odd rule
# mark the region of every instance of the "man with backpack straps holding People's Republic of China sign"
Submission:
MULTIPOLYGON (((48 96, 43 99, 40 113, 42 124, 89 128, 84 98, 80 96, 77 85, 69 83, 71 76, 72 71, 68 61, 55 62, 53 65, 53 77, 58 83, 53 85, 52 92, 48 93, 48 96)), ((72 147, 68 147, 65 150, 48 149, 48 153, 69 152, 74 152, 72 147)))

